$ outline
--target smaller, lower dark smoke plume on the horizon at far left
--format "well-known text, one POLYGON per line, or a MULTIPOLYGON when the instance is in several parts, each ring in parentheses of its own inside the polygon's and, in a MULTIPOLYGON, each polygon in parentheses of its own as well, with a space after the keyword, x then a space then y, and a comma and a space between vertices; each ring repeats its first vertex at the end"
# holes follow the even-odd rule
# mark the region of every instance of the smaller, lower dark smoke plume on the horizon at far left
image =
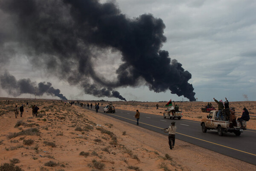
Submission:
POLYGON ((57 96, 62 100, 67 100, 67 98, 60 93, 61 91, 53 88, 52 84, 49 82, 46 84, 45 82, 40 82, 38 86, 36 86, 36 82, 32 82, 30 79, 20 79, 17 81, 13 75, 9 74, 9 72, 0 75, 0 82, 1 87, 15 97, 24 93, 36 93, 38 96, 42 96, 46 93, 47 95, 57 96))

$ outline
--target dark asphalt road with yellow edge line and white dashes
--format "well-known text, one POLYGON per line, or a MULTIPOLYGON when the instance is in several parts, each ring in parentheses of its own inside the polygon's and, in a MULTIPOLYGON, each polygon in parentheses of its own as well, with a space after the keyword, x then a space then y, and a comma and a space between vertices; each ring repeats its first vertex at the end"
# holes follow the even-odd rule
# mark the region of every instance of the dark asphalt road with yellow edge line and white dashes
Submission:
MULTIPOLYGON (((103 108, 100 107, 99 113, 134 125, 137 123, 133 117, 135 111, 116 109, 116 113, 103 113, 103 108)), ((203 133, 200 122, 186 119, 163 119, 163 116, 148 113, 140 113, 138 127, 167 135, 161 129, 168 128, 173 121, 177 126, 176 139, 256 165, 256 130, 244 130, 240 136, 236 136, 234 133, 218 136, 217 130, 207 130, 207 133, 203 133)))

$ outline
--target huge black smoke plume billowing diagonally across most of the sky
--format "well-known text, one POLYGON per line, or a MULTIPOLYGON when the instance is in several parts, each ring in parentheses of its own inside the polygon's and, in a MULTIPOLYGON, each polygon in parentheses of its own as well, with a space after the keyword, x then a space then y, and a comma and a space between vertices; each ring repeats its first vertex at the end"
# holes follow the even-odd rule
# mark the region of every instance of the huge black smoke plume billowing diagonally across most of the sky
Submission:
MULTIPOLYGON (((0 9, 15 26, 15 34, 0 34, 3 42, 17 42, 16 49, 22 49, 33 64, 81 85, 85 93, 123 99, 112 89, 145 84, 154 92, 169 89, 195 100, 188 83, 191 74, 161 50, 165 25, 151 14, 130 19, 114 3, 99 0, 2 0, 0 9), (98 49, 120 52, 123 64, 116 70, 116 81, 97 74, 95 68, 100 66, 92 59, 104 60, 95 55, 98 49)), ((5 53, 0 56, 11 54, 3 45, 5 53)))

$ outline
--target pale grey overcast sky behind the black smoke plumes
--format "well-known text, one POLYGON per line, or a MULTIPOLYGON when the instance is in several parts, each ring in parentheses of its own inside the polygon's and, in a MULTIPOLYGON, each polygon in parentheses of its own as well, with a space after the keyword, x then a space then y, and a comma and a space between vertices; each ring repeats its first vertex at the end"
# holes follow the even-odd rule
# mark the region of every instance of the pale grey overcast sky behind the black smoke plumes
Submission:
MULTIPOLYGON (((171 59, 176 59, 184 70, 191 73, 189 83, 193 85, 198 101, 213 101, 213 97, 218 100, 227 97, 229 101, 256 101, 255 0, 117 0, 116 5, 131 19, 141 14, 152 14, 163 20, 167 41, 162 49, 167 50, 171 59)), ((3 21, 0 17, 0 22, 3 21)), ((109 52, 109 58, 118 55, 121 54, 109 52)), ((119 100, 84 94, 80 87, 56 78, 54 73, 45 74, 38 70, 27 58, 12 58, 4 70, 17 79, 30 78, 38 83, 49 81, 67 99, 119 100)), ((96 67, 100 68, 104 63, 104 60, 99 60, 96 67)), ((119 63, 121 60, 115 61, 117 66, 119 63)), ((101 75, 113 72, 114 75, 115 71, 102 67, 99 72, 101 75)), ((184 96, 171 94, 170 90, 154 93, 147 86, 116 90, 126 100, 188 100, 184 96)), ((12 97, 3 89, 0 96, 12 97)), ((27 98, 30 95, 19 97, 27 98)))

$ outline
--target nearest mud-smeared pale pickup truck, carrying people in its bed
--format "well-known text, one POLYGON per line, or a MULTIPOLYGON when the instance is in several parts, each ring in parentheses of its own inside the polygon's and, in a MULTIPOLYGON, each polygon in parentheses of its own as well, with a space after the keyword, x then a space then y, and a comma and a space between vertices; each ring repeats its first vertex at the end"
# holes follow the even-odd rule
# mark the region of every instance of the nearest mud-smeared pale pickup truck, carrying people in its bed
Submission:
POLYGON ((207 132, 207 130, 213 130, 216 129, 218 131, 218 135, 222 136, 223 133, 235 133, 236 136, 239 136, 243 130, 246 130, 246 121, 243 121, 243 128, 241 129, 240 122, 236 121, 236 125, 234 125, 233 128, 230 128, 230 121, 229 121, 229 113, 223 113, 224 119, 223 120, 217 120, 217 113, 218 110, 212 110, 210 111, 209 115, 207 116, 207 119, 202 119, 201 121, 201 127, 202 131, 204 133, 207 132))

